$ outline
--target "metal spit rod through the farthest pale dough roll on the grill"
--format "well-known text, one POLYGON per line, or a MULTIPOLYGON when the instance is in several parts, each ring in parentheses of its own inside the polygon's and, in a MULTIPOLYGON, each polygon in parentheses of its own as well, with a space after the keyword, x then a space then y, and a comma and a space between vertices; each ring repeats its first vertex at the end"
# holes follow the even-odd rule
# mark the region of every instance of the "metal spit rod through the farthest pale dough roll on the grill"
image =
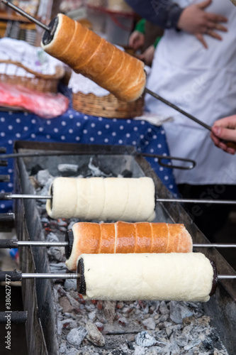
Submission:
MULTIPOLYGON (((51 195, 27 195, 27 194, 11 194, 9 192, 0 193, 0 200, 12 200, 12 199, 35 199, 35 200, 52 200, 51 195)), ((175 199, 175 198, 157 198, 156 202, 181 202, 181 203, 201 203, 201 204, 236 204, 234 200, 191 200, 191 199, 175 199)))

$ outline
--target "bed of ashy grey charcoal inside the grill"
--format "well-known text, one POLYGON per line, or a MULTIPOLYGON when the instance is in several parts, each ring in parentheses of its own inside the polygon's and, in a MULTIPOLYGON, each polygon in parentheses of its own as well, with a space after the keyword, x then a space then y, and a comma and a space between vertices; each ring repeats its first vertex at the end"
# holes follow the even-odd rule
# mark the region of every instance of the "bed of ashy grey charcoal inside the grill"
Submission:
MULTIPOLYGON (((101 172, 94 160, 89 166, 91 169, 80 167, 78 175, 83 173, 84 178, 109 175, 101 172)), ((53 178, 49 177, 47 190, 53 178)), ((37 193, 47 195, 44 188, 37 193)), ((57 223, 47 217, 42 204, 38 207, 48 240, 64 241, 64 231, 79 222, 61 219, 57 223)), ((49 253, 53 258, 50 249, 49 253)), ((53 273, 67 272, 64 261, 55 258, 50 268, 53 273)), ((54 280, 53 284, 60 354, 228 355, 215 328, 210 326, 210 317, 204 315, 201 303, 83 300, 76 291, 76 280, 54 280)))

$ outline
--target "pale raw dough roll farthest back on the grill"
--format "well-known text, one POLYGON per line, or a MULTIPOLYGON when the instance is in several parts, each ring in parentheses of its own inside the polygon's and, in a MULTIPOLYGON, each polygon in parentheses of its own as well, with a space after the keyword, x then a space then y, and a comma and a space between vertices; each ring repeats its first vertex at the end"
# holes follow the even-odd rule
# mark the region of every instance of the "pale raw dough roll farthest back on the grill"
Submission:
POLYGON ((151 178, 55 178, 47 214, 52 218, 152 221, 155 191, 151 178))

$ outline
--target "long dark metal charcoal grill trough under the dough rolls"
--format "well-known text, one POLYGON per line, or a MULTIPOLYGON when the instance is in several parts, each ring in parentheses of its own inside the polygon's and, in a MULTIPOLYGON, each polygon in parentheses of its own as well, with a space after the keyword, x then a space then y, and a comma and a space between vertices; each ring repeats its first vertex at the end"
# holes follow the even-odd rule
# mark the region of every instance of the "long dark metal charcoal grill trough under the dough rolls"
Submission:
MULTIPOLYGON (((149 163, 147 163, 145 158, 138 154, 133 147, 17 141, 14 151, 16 153, 35 154, 15 160, 14 192, 18 194, 35 194, 35 189, 29 179, 29 172, 35 169, 36 166, 40 165, 42 169, 49 170, 51 175, 57 176, 57 165, 70 163, 79 165, 81 173, 86 173, 89 161, 93 158, 99 168, 108 174, 112 173, 118 176, 126 172, 131 173, 133 178, 142 176, 152 178, 152 180, 154 180, 157 197, 160 199, 172 198, 171 193, 164 187, 152 168, 150 168, 149 163), (69 155, 60 155, 60 152, 65 151, 69 152, 69 155), (40 153, 45 152, 52 153, 53 156, 40 156, 40 153)), ((34 199, 14 200, 13 211, 15 214, 18 240, 45 241, 45 230, 41 217, 43 209, 44 207, 39 207, 34 199)), ((183 223, 193 238, 193 244, 209 243, 208 239, 206 239, 197 226, 193 224, 189 215, 186 214, 179 202, 157 203, 156 215, 157 217, 154 222, 183 223)), ((8 216, 8 218, 12 219, 12 215, 8 216)), ((63 241, 62 235, 63 234, 61 234, 59 238, 63 241)), ((215 248, 195 248, 194 250, 204 253, 210 260, 215 261, 218 273, 223 275, 236 275, 235 271, 227 264, 223 256, 221 256, 215 248)), ((37 273, 50 273, 50 262, 45 247, 29 246, 20 248, 20 263, 23 273, 35 273, 35 271, 37 273)), ((52 280, 48 279, 22 280, 23 304, 24 310, 27 311, 26 337, 29 354, 60 354, 60 339, 57 329, 58 304, 56 300, 57 297, 55 297, 55 288, 53 287, 56 284, 57 283, 52 283, 52 280)), ((140 306, 140 303, 138 306, 140 306)), ((210 301, 203 303, 202 306, 205 315, 210 316, 211 323, 213 327, 217 329, 220 340, 225 345, 228 354, 236 354, 235 280, 220 280, 215 295, 210 298, 210 301)), ((98 307, 98 305, 96 305, 96 307, 98 307)), ((121 333, 120 331, 120 334, 121 333)), ((124 338, 123 341, 130 344, 129 339, 131 338, 129 337, 131 334, 136 334, 137 329, 129 328, 129 331, 124 333, 128 335, 127 339, 124 338)), ((122 341, 121 338, 118 339, 117 344, 113 344, 113 351, 116 350, 120 341, 122 341)), ((108 340, 108 343, 109 342, 111 343, 111 341, 108 340)), ((161 347, 164 346, 161 343, 162 342, 158 342, 157 345, 161 347)), ((112 347, 110 346, 109 349, 111 351, 112 347)), ((129 349, 132 349, 131 345, 129 349)), ((107 354, 108 353, 109 351, 107 354)), ((63 354, 67 354, 67 352, 63 354)), ((84 352, 79 354, 86 354, 86 351, 84 350, 84 352)))

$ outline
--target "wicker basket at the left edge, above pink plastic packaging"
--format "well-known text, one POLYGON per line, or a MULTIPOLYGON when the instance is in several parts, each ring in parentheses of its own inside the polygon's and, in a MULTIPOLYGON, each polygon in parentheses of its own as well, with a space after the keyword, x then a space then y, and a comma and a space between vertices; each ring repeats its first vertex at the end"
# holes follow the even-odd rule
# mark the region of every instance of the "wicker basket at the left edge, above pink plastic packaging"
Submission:
POLYGON ((45 75, 30 70, 28 67, 22 65, 21 62, 14 62, 13 60, 0 60, 0 63, 6 64, 5 72, 0 73, 0 82, 13 85, 22 85, 23 87, 28 87, 28 89, 33 89, 40 92, 56 93, 58 82, 62 77, 64 77, 64 67, 56 67, 55 75, 45 75), (26 72, 33 74, 34 77, 8 75, 6 74, 8 64, 16 65, 16 70, 18 67, 21 67, 26 70, 26 72))

